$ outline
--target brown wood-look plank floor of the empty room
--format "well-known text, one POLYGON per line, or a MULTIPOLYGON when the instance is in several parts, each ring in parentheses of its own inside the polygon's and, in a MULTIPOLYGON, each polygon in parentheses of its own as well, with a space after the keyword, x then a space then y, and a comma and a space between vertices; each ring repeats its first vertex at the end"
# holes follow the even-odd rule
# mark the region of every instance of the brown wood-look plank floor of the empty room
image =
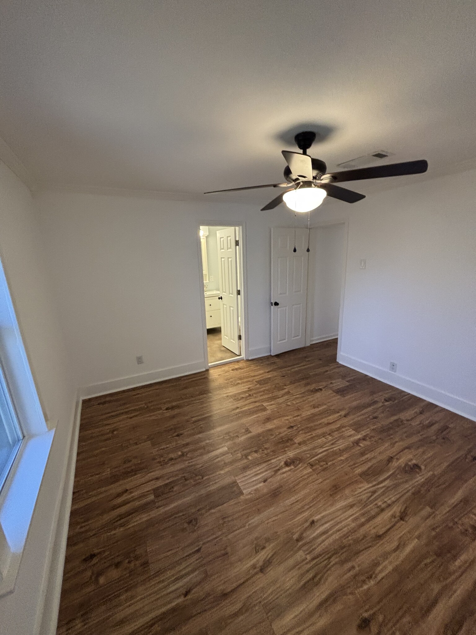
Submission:
POLYGON ((84 401, 58 634, 474 634, 476 425, 335 358, 84 401))

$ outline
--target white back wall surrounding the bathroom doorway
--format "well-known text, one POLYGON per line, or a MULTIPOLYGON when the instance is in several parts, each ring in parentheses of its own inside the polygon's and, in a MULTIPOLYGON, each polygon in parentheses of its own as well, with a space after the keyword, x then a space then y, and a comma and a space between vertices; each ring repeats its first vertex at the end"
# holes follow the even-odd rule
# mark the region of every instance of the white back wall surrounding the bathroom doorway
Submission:
MULTIPOLYGON (((69 354, 79 385, 92 386, 87 394, 204 368, 199 225, 245 224, 248 348, 252 356, 270 352, 270 227, 292 226, 284 206, 257 213, 256 205, 64 192, 36 202, 69 354)), ((329 204, 322 214, 335 218, 340 208, 329 204)))

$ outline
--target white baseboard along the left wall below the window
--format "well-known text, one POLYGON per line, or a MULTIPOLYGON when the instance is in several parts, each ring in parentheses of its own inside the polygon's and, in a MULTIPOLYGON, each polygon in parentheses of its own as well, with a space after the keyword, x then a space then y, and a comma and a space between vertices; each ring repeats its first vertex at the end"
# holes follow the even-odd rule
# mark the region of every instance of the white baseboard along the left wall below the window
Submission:
POLYGON ((69 514, 73 497, 74 471, 76 469, 77 439, 79 436, 79 422, 81 420, 81 402, 79 398, 74 413, 71 432, 68 461, 63 481, 63 491, 60 499, 60 509, 56 520, 56 530, 50 554, 50 568, 46 581, 43 615, 39 627, 39 635, 56 635, 58 610, 60 608, 63 569, 65 565, 66 543, 68 538, 69 514))

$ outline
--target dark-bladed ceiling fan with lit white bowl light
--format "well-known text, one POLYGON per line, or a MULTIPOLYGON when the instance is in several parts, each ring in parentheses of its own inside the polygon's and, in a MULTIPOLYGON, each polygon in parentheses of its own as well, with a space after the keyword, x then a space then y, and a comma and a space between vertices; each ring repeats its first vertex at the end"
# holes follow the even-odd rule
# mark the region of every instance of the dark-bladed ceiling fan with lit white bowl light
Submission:
POLYGON ((285 183, 269 183, 267 185, 251 185, 251 187, 232 187, 227 190, 213 190, 204 194, 216 194, 217 192, 237 192, 239 190, 255 190, 261 187, 283 187, 281 192, 270 203, 261 208, 261 211, 273 210, 283 201, 293 211, 308 212, 315 210, 324 201, 326 196, 331 196, 346 203, 356 203, 365 198, 364 194, 345 189, 336 183, 344 181, 357 181, 365 178, 400 177, 406 174, 421 174, 428 170, 428 161, 406 161, 404 163, 392 163, 371 168, 358 168, 357 170, 343 170, 327 174, 327 166, 321 159, 313 159, 308 156, 307 150, 315 140, 312 131, 299 132, 294 141, 300 152, 282 150, 282 156, 288 165, 284 168, 285 183))

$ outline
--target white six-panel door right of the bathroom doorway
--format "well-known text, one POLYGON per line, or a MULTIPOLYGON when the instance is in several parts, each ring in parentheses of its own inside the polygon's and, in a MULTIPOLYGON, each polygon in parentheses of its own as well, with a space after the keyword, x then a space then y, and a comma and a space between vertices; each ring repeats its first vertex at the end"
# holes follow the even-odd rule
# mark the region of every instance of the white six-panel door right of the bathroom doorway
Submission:
POLYGON ((305 346, 307 229, 271 230, 271 354, 305 346))

